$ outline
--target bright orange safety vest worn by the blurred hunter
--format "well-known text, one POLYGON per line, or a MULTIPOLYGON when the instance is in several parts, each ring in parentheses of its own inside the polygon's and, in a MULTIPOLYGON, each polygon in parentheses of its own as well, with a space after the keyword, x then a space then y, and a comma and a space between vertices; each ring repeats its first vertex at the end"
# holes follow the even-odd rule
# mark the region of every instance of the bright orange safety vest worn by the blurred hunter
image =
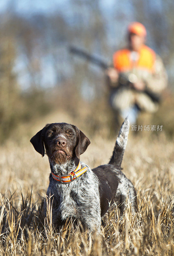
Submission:
POLYGON ((113 64, 119 72, 129 71, 132 68, 146 69, 150 73, 154 72, 156 54, 148 46, 143 45, 139 51, 139 59, 136 62, 130 59, 129 49, 119 50, 113 55, 113 64))

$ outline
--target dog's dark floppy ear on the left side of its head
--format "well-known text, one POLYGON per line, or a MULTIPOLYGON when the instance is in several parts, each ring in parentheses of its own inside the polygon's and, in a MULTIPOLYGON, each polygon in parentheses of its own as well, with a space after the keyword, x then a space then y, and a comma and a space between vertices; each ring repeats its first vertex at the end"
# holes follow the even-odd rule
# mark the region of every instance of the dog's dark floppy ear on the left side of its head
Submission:
POLYGON ((44 148, 44 143, 43 143, 43 133, 45 131, 45 127, 37 132, 30 140, 32 143, 34 149, 40 153, 42 156, 45 155, 45 148, 44 148))

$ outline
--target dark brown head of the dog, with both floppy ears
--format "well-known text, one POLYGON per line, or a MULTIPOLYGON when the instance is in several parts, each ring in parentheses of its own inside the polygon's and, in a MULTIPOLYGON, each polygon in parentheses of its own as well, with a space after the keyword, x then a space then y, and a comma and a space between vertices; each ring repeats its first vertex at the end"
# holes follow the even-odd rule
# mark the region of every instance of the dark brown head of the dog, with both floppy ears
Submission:
POLYGON ((42 156, 46 150, 49 159, 56 164, 64 164, 75 157, 79 159, 90 144, 75 125, 66 123, 47 124, 30 142, 42 156))

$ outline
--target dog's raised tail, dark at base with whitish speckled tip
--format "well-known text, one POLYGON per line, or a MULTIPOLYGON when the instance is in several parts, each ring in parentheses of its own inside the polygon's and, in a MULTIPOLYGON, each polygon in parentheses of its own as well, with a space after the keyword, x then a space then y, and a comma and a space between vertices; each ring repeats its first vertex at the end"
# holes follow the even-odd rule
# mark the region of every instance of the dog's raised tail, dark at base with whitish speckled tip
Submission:
POLYGON ((116 143, 115 147, 113 150, 112 157, 110 158, 109 164, 114 165, 118 169, 121 168, 121 163, 123 159, 123 155, 125 152, 125 148, 127 145, 127 139, 128 139, 128 134, 129 134, 129 120, 127 117, 125 118, 125 121, 123 122, 116 143))

